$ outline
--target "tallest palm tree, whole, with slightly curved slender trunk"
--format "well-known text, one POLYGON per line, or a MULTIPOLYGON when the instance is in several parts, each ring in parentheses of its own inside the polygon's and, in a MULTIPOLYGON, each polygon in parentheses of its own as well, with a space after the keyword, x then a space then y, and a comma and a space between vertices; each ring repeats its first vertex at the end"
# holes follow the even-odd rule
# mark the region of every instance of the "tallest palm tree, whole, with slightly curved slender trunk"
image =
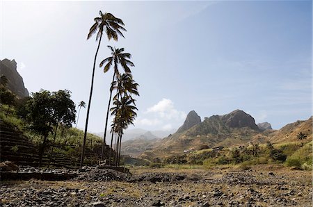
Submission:
POLYGON ((90 27, 87 40, 91 38, 95 33, 97 33, 96 36, 96 41, 99 38, 99 43, 97 47, 97 51, 95 53, 95 60, 93 62, 93 74, 91 77, 91 86, 90 86, 90 94, 89 94, 89 101, 88 101, 88 107, 87 107, 87 116, 86 116, 86 126, 85 126, 85 132, 83 134, 83 149, 81 152, 81 166, 83 166, 83 158, 85 156, 85 148, 86 148, 86 137, 87 137, 87 129, 88 129, 88 119, 89 119, 89 111, 90 111, 90 104, 91 104, 91 97, 93 96, 93 81, 94 81, 94 76, 95 76, 95 64, 97 60, 97 54, 99 51, 99 47, 101 44, 101 39, 102 39, 102 34, 105 32, 108 39, 118 41, 118 35, 122 36, 123 38, 124 35, 122 34, 122 31, 126 31, 126 29, 122 26, 125 24, 122 22, 122 19, 118 19, 111 13, 102 13, 102 11, 99 11, 100 17, 95 17, 94 21, 95 24, 90 27))

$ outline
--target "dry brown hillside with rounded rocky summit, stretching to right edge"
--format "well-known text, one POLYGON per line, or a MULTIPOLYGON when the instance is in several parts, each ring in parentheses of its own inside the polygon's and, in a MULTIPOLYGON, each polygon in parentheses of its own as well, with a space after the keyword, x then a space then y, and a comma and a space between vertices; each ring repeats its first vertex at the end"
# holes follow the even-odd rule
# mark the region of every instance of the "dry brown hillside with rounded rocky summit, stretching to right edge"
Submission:
POLYGON ((150 144, 152 149, 147 149, 141 158, 166 157, 184 154, 184 150, 197 150, 202 146, 212 147, 238 147, 248 145, 250 142, 265 144, 299 142, 297 135, 302 132, 307 135, 303 142, 312 140, 312 117, 306 121, 297 121, 287 124, 280 130, 259 129, 255 119, 243 112, 234 110, 227 115, 213 115, 205 117, 203 122, 195 124, 190 129, 177 132, 163 138, 157 143, 150 144))

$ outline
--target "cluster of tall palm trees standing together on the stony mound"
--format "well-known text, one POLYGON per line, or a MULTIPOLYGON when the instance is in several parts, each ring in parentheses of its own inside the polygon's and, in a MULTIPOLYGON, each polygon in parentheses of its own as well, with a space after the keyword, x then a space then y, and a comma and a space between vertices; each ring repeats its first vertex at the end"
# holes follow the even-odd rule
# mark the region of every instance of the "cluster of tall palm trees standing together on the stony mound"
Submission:
MULTIPOLYGON (((83 149, 81 153, 81 166, 83 165, 83 160, 85 156, 85 148, 86 148, 86 136, 88 129, 88 119, 90 113, 90 104, 91 98, 93 96, 93 82, 95 76, 95 65, 97 61, 97 54, 99 51, 99 47, 102 40, 102 35, 106 33, 106 36, 109 40, 113 39, 118 41, 119 36, 123 31, 127 31, 123 26, 125 24, 122 22, 122 19, 119 19, 112 15, 111 13, 102 13, 99 11, 99 17, 95 17, 95 24, 91 26, 90 31, 88 33, 87 40, 91 38, 94 34, 96 35, 96 41, 99 40, 97 51, 95 53, 95 60, 93 63, 93 74, 91 78, 91 87, 90 87, 90 95, 87 107, 87 117, 86 117, 86 125, 85 131, 83 135, 83 149)), ((106 112, 106 123, 104 127, 104 141, 102 145, 102 160, 104 159, 104 149, 106 149, 106 131, 109 120, 109 112, 111 111, 111 115, 114 116, 113 124, 111 125, 111 148, 110 148, 110 156, 109 156, 109 165, 111 165, 112 161, 114 161, 115 165, 120 164, 120 146, 122 142, 122 134, 123 130, 127 129, 129 124, 134 124, 134 119, 136 117, 136 104, 135 99, 133 99, 132 95, 138 94, 138 84, 135 83, 133 77, 131 76, 131 69, 129 67, 134 67, 134 63, 132 63, 129 59, 131 58, 130 53, 124 53, 124 48, 117 49, 115 47, 108 46, 111 50, 111 56, 105 58, 100 63, 99 67, 104 67, 104 73, 108 72, 111 67, 113 67, 113 80, 110 88, 110 97, 109 104, 106 112), (120 69, 124 72, 120 73, 120 69), (113 97, 113 107, 111 107, 111 100, 113 91, 115 95, 113 97), (111 151, 113 147, 113 138, 115 137, 115 154, 111 151)))

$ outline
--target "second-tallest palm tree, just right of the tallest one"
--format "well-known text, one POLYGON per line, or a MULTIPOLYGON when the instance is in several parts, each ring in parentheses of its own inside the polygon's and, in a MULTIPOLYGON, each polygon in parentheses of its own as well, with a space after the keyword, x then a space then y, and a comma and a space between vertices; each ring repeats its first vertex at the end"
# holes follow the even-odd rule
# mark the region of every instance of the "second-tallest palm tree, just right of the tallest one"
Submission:
POLYGON ((106 58, 102 60, 100 63, 100 67, 104 66, 104 73, 108 72, 109 69, 114 67, 114 72, 113 72, 113 80, 111 83, 111 88, 110 88, 110 97, 109 97, 109 104, 108 108, 106 110, 106 124, 104 126, 104 137, 103 137, 103 144, 102 144, 102 153, 101 153, 101 159, 104 159, 104 149, 106 145, 106 130, 108 127, 108 119, 109 119, 109 110, 110 110, 110 105, 111 105, 111 99, 112 99, 112 92, 113 92, 113 84, 115 81, 115 76, 120 76, 120 73, 118 71, 118 65, 122 66, 122 69, 124 69, 125 73, 130 74, 131 69, 129 67, 134 67, 134 63, 132 63, 129 59, 131 58, 130 53, 123 53, 124 48, 121 49, 116 49, 115 47, 109 46, 109 49, 111 49, 111 57, 106 58), (105 64, 105 65, 104 65, 105 64))

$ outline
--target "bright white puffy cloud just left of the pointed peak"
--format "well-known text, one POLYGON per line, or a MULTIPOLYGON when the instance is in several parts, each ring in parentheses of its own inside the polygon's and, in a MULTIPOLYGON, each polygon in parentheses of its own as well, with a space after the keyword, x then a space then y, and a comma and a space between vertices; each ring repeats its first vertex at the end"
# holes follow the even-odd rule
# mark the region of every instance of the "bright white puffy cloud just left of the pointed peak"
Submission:
POLYGON ((159 117, 165 119, 181 120, 186 117, 186 113, 174 108, 174 103, 170 99, 162 99, 159 103, 148 108, 146 113, 157 113, 159 117))

